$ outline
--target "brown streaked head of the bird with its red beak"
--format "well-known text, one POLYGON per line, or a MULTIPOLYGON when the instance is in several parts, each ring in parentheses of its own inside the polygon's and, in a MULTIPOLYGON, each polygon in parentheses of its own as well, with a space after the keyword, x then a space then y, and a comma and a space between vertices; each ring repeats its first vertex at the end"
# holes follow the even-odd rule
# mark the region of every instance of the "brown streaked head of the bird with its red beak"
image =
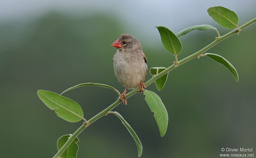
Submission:
POLYGON ((111 46, 116 47, 116 49, 124 51, 133 51, 136 49, 141 49, 140 41, 129 34, 121 35, 111 46))

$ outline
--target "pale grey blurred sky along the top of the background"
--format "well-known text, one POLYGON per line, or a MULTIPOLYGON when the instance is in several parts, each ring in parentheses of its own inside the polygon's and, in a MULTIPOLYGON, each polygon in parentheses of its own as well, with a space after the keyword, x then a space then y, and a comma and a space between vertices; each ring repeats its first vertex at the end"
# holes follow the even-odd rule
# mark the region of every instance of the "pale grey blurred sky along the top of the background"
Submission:
MULTIPOLYGON (((29 20, 31 17, 38 17, 49 11, 59 11, 68 14, 82 14, 82 16, 94 13, 112 14, 113 19, 118 19, 129 25, 129 33, 140 34, 146 38, 158 37, 155 31, 156 25, 163 25, 171 28, 173 32, 179 32, 180 27, 190 27, 201 24, 216 23, 208 16, 206 8, 212 6, 224 6, 236 12, 243 22, 254 18, 255 14, 248 14, 244 10, 253 11, 256 6, 255 0, 234 1, 234 0, 179 0, 179 1, 148 1, 148 0, 100 0, 100 1, 69 1, 69 0, 1 0, 0 22, 2 20, 22 19, 29 20), (177 9, 178 8, 178 9, 177 9), (204 9, 199 9, 204 8, 204 9), (198 22, 201 23, 198 23, 198 22), (189 25, 188 25, 189 24, 189 25), (137 29, 134 29, 137 28, 137 29), (138 30, 138 32, 133 31, 138 30)), ((255 13, 255 11, 253 11, 255 13)))

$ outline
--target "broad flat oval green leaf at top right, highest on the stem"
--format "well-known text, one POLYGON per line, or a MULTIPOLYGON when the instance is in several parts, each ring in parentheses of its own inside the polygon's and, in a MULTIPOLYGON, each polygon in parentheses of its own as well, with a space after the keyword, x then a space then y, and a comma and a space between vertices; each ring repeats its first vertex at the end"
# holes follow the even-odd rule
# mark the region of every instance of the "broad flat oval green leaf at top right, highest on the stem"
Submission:
POLYGON ((223 28, 238 28, 238 17, 235 12, 221 6, 211 7, 207 12, 223 28))

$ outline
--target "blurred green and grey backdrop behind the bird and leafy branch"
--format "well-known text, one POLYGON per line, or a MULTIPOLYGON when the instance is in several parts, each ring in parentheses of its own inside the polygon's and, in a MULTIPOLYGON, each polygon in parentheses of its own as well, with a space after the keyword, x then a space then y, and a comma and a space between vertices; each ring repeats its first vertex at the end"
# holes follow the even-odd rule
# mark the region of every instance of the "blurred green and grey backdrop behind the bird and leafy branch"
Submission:
MULTIPOLYGON (((0 16, 1 157, 52 157, 57 139, 72 134, 82 122, 62 120, 37 97, 44 89, 61 93, 79 83, 104 83, 120 92, 112 64, 111 43, 129 33, 140 40, 148 68, 168 67, 175 60, 165 51, 156 25, 177 33, 201 24, 221 28, 207 8, 224 6, 239 17, 239 26, 255 18, 255 1, 3 1, 0 16)), ((256 147, 256 24, 207 52, 228 59, 239 74, 236 83, 222 65, 207 57, 192 59, 169 72, 162 91, 151 84, 169 115, 163 138, 142 94, 118 105, 143 145, 142 158, 219 157, 221 147, 256 147)), ((217 36, 213 30, 181 36, 178 59, 200 50, 217 36)), ((146 80, 151 78, 148 72, 146 80)), ((115 91, 82 87, 64 96, 75 100, 90 119, 112 104, 115 91)), ((129 132, 114 115, 101 117, 78 138, 78 158, 137 157, 129 132)))

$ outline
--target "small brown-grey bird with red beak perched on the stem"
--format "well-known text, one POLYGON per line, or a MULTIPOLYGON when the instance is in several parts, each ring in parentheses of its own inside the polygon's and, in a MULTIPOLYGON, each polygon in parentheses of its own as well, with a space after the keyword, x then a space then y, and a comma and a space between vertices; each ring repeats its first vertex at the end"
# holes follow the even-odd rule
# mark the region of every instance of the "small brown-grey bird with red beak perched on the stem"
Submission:
POLYGON ((117 49, 113 58, 116 78, 125 87, 120 99, 127 105, 127 89, 140 87, 140 93, 144 93, 148 59, 142 51, 140 41, 132 35, 122 34, 111 46, 117 49))

